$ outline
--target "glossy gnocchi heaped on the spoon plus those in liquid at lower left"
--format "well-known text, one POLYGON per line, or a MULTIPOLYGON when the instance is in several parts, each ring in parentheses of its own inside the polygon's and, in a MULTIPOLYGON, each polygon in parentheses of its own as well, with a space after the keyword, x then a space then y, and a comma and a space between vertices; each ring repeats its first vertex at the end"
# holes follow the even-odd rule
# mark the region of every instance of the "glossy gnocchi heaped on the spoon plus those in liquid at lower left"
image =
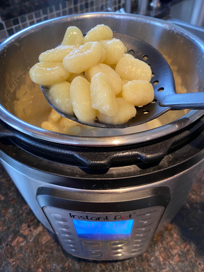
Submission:
MULTIPOLYGON (((68 27, 61 45, 41 53, 39 63, 30 69, 33 82, 50 86, 52 105, 83 123, 96 117, 102 123, 127 122, 136 115, 135 106, 154 99, 151 77, 150 66, 127 54, 122 41, 103 24, 85 37, 78 27, 68 27)), ((52 109, 41 126, 59 131, 56 124, 64 133, 79 126, 52 109)))

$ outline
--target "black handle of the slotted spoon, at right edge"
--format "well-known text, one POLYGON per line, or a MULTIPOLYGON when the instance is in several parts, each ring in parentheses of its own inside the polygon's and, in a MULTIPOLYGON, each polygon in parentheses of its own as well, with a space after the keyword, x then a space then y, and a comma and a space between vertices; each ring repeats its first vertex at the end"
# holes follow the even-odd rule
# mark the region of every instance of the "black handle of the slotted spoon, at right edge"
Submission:
POLYGON ((171 110, 204 110, 204 92, 166 95, 159 106, 170 107, 171 110))

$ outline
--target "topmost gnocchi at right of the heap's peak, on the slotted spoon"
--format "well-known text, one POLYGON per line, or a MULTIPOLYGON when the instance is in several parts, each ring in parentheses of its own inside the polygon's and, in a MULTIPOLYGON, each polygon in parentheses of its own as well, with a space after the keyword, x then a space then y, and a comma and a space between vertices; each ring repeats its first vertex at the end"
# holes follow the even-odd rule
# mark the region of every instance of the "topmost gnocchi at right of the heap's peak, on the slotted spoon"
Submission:
POLYGON ((86 33, 84 44, 86 42, 100 42, 101 40, 110 40, 113 38, 113 31, 104 24, 98 24, 86 33))

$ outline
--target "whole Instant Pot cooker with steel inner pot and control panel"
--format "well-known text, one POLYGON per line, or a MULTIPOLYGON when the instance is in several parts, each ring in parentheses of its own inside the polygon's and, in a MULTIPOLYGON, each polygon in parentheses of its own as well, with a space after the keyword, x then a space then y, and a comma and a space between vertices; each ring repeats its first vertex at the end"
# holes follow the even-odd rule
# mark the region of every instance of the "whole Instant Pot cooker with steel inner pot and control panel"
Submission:
POLYGON ((20 86, 27 82, 31 93, 36 88, 25 78, 38 55, 60 44, 68 26, 85 33, 102 23, 149 42, 171 59, 187 92, 203 91, 204 44, 171 23, 114 13, 39 23, 0 47, 0 160, 65 251, 117 260, 146 251, 154 233, 172 220, 202 178, 204 111, 169 112, 153 129, 99 129, 78 136, 39 128, 41 100, 25 101, 35 122, 16 117, 20 86))

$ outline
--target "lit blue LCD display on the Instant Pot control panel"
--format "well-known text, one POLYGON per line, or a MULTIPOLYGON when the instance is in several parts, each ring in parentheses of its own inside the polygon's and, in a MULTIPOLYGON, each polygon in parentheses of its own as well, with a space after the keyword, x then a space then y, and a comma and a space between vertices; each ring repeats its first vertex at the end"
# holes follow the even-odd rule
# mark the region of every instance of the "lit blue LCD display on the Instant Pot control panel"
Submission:
POLYGON ((85 239, 125 239, 131 236, 134 219, 115 222, 90 222, 73 219, 78 237, 85 239))

